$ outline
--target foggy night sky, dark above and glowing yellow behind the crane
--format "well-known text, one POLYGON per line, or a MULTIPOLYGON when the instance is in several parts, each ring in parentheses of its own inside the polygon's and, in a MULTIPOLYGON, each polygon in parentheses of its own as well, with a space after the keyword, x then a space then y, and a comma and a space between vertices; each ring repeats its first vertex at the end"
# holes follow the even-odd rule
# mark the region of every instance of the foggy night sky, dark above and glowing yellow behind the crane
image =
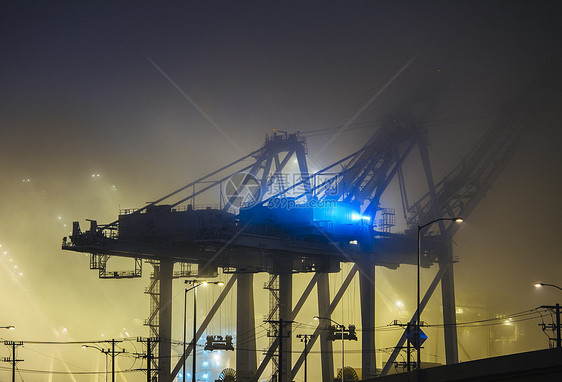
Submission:
MULTIPOLYGON (((436 180, 458 163, 502 105, 547 76, 540 86, 554 96, 455 236, 456 293, 465 311, 490 316, 562 302, 557 290, 533 288, 536 281, 562 284, 561 8, 555 1, 4 4, 0 326, 16 330, 0 329, 0 338, 80 342, 147 336, 142 322, 149 300, 143 291, 150 266, 140 280, 99 280, 88 269, 88 257, 60 249, 72 221, 113 221, 120 208, 141 207, 257 149, 272 129, 343 126, 412 58, 355 122, 381 120, 439 70, 448 87, 426 121, 436 180)), ((318 155, 317 164, 353 152, 372 133, 348 129, 318 155)), ((309 153, 315 155, 330 134, 310 137, 309 153)), ((392 187, 384 203, 399 208, 392 187)), ((425 271, 424 283, 434 271, 425 271)), ((408 266, 377 270, 377 325, 405 320, 397 317, 397 300, 413 312, 414 274, 408 266)), ((175 291, 181 291, 176 283, 175 291)), ((256 285, 256 294, 265 293, 261 281, 256 285)), ((202 311, 218 292, 208 293, 202 311)), ((437 295, 428 321, 440 322, 439 309, 437 295)), ((256 317, 266 310, 259 307, 256 317)), ((176 339, 180 315, 181 310, 174 315, 176 339)), ((225 323, 228 305, 221 315, 215 329, 234 328, 225 323)), ((359 324, 359 313, 345 320, 359 324)), ((458 320, 465 320, 462 314, 458 320)), ((548 340, 535 324, 517 345, 497 352, 546 348, 548 340)), ((437 329, 434 336, 439 338, 437 329)), ((377 347, 394 346, 395 337, 378 336, 377 347)), ((25 381, 102 380, 103 375, 25 371, 104 370, 103 355, 72 346, 26 345, 20 375, 25 381)), ((123 346, 134 351, 139 344, 123 346)), ((431 346, 443 362, 441 345, 431 346)), ((462 360, 494 355, 486 342, 459 354, 462 360)), ((10 356, 7 347, 2 345, 0 356, 10 356)), ((352 366, 360 367, 356 357, 352 366)), ((386 355, 377 357, 380 367, 386 355)), ((132 358, 119 362, 122 369, 140 367, 132 358)), ((219 363, 219 371, 234 367, 234 357, 219 363)), ((0 366, 4 380, 8 364, 0 366)))

